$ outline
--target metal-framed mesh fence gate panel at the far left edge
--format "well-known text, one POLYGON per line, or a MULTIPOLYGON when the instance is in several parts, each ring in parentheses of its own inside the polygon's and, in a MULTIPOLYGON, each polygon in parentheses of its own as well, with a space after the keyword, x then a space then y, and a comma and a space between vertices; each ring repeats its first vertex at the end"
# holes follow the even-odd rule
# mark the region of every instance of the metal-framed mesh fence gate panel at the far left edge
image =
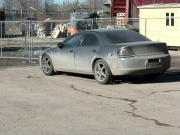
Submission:
POLYGON ((30 59, 30 22, 0 22, 0 57, 30 59))

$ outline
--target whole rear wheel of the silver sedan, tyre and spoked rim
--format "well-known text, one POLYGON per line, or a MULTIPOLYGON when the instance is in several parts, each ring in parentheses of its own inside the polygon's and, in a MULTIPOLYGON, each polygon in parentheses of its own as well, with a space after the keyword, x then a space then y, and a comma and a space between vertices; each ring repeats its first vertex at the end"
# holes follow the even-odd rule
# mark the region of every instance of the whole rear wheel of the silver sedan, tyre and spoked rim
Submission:
POLYGON ((103 59, 96 61, 93 67, 93 71, 96 81, 100 84, 109 84, 113 80, 111 70, 103 59))

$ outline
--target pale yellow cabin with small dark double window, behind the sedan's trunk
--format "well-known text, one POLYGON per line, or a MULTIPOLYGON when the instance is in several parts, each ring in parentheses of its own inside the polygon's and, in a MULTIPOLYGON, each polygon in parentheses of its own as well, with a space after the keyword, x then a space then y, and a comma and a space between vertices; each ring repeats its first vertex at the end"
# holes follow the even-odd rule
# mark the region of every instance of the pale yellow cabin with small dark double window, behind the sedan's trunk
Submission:
POLYGON ((180 3, 152 4, 139 8, 139 32, 153 41, 180 48, 180 3))

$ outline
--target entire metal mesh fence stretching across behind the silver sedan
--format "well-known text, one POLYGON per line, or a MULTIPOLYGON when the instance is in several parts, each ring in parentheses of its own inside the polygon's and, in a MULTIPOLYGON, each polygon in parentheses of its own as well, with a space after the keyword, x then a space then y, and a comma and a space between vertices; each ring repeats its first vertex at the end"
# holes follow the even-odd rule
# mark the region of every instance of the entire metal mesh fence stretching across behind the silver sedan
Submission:
POLYGON ((55 46, 78 31, 106 28, 128 28, 154 41, 167 42, 179 47, 179 18, 167 23, 166 19, 95 18, 81 20, 1 21, 0 57, 37 59, 37 52, 55 46), (176 22, 177 21, 177 22, 176 22), (70 31, 70 29, 73 31, 70 31), (70 33, 72 32, 72 33, 70 33))

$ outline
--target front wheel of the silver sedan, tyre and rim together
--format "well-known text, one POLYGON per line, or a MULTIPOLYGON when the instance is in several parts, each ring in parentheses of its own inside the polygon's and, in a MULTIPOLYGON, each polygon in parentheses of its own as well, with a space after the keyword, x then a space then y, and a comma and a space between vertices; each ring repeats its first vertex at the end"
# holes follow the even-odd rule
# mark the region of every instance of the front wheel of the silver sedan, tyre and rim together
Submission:
POLYGON ((51 58, 49 57, 49 55, 45 54, 42 57, 41 65, 42 65, 42 71, 45 75, 47 75, 47 76, 54 75, 55 72, 54 72, 52 61, 51 61, 51 58))

